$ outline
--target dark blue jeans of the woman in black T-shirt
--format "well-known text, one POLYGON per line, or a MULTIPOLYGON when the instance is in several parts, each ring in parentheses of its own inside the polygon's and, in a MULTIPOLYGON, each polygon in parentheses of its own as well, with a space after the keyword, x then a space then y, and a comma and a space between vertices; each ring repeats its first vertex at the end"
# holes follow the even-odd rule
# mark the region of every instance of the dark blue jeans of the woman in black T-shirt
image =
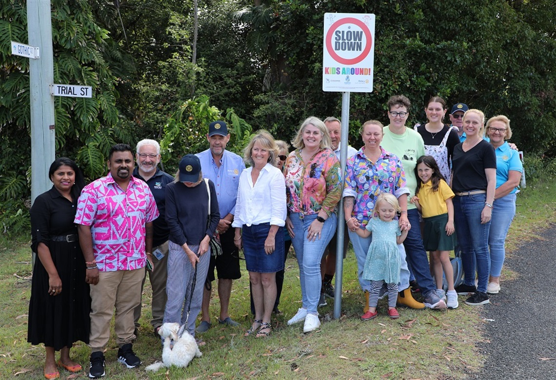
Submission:
POLYGON ((489 275, 488 238, 490 221, 481 224, 481 212, 485 207, 486 194, 454 197, 454 223, 461 247, 461 262, 466 285, 475 285, 473 252, 479 279, 477 290, 486 293, 489 275))

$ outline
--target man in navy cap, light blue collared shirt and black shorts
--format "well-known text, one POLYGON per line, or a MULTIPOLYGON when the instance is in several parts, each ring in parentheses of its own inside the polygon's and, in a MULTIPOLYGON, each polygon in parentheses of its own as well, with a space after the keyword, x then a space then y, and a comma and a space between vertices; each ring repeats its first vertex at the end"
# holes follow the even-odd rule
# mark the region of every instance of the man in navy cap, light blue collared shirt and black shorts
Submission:
POLYGON ((214 182, 216 195, 220 207, 220 223, 216 231, 220 233, 222 244, 222 255, 211 256, 209 274, 203 293, 201 307, 201 323, 197 332, 205 332, 211 326, 209 304, 211 297, 212 281, 215 279, 214 269, 218 273, 218 295, 220 297, 220 324, 237 326, 239 323, 230 318, 228 307, 232 292, 232 280, 241 277, 239 251, 234 244, 234 229, 230 228, 234 220, 236 208, 237 187, 239 186, 240 174, 245 169, 243 159, 226 150, 226 144, 230 141, 227 125, 224 121, 212 122, 207 134, 210 148, 197 154, 201 160, 203 177, 214 182))

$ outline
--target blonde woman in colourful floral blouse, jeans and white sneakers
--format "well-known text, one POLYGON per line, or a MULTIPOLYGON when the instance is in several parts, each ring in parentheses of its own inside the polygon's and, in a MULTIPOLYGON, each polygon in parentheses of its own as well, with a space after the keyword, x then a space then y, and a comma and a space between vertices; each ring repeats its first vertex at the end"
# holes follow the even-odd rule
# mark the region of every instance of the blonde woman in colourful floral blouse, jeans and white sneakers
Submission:
POLYGON ((330 149, 330 134, 317 117, 308 117, 292 140, 296 148, 287 157, 286 228, 299 264, 302 306, 287 324, 304 322, 303 332, 320 326, 320 261, 336 231, 336 206, 342 184, 340 162, 330 149))

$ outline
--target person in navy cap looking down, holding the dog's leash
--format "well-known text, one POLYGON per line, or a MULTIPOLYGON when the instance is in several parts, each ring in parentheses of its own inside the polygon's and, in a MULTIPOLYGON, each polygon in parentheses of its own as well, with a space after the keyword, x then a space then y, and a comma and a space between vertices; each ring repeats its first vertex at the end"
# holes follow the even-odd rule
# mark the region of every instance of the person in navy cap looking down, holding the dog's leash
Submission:
POLYGON ((164 323, 185 324, 187 319, 187 331, 193 336, 195 320, 201 311, 203 285, 209 272, 210 238, 219 221, 214 183, 203 180, 201 161, 197 156, 188 154, 182 157, 176 180, 166 185, 166 223, 170 241, 164 323), (191 295, 195 270, 196 285, 191 295))

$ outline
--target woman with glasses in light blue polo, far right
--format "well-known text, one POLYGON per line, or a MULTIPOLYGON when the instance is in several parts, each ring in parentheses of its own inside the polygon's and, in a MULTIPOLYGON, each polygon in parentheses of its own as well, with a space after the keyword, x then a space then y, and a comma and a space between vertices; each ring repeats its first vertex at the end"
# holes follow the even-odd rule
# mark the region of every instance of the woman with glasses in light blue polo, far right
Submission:
POLYGON ((515 215, 515 195, 523 172, 523 164, 517 150, 510 148, 512 137, 510 120, 504 115, 491 117, 486 122, 486 136, 496 153, 496 191, 490 222, 490 277, 486 293, 500 291, 500 272, 504 264, 505 242, 508 229, 515 215))

